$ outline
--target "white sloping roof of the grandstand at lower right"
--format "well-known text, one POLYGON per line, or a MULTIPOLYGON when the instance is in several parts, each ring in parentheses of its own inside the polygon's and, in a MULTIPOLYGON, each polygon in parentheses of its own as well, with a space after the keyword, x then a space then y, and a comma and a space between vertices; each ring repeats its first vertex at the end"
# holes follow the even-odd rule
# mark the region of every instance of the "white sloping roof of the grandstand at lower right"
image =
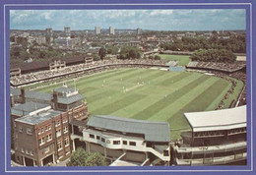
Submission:
POLYGON ((184 113, 194 132, 246 127, 246 105, 230 109, 184 113))

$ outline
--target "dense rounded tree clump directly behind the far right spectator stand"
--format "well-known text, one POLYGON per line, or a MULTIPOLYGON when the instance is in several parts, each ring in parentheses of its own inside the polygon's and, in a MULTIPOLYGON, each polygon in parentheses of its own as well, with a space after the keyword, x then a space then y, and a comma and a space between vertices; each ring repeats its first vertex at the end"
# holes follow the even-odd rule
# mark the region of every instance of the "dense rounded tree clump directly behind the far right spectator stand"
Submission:
POLYGON ((192 61, 232 63, 236 57, 230 50, 226 49, 199 49, 190 56, 190 59, 192 61))

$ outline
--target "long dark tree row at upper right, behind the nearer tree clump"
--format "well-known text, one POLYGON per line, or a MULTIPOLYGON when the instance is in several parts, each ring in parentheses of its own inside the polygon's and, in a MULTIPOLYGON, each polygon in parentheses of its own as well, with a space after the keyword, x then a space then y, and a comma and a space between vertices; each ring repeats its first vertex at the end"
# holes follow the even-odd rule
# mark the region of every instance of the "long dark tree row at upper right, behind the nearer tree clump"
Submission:
POLYGON ((246 52, 246 41, 243 35, 231 35, 229 38, 218 38, 213 35, 207 37, 182 37, 181 39, 174 39, 173 42, 167 42, 160 45, 164 50, 173 51, 195 51, 200 48, 204 49, 226 49, 234 53, 246 52))

